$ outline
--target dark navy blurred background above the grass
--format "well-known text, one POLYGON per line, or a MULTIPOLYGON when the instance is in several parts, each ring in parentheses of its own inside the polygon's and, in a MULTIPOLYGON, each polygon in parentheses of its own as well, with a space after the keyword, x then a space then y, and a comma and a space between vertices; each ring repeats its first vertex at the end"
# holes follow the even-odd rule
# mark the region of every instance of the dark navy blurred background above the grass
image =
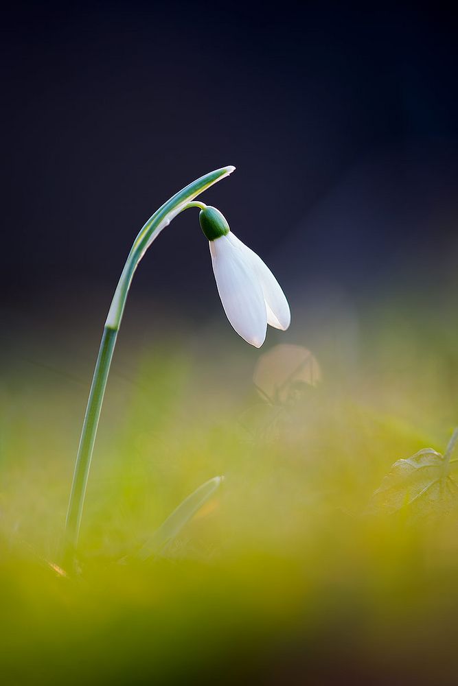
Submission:
MULTIPOLYGON (((451 11, 17 3, 1 24, 0 281, 11 303, 110 293, 152 211, 226 164, 236 174, 203 199, 283 282, 358 293, 456 254, 451 11)), ((160 241, 137 289, 207 307, 197 216, 160 241)))

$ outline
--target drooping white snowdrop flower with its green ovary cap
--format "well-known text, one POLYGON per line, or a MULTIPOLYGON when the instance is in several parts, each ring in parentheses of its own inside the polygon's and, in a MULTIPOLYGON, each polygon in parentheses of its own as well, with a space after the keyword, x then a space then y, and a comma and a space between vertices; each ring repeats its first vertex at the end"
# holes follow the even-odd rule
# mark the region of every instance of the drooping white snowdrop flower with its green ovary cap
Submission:
POLYGON ((209 239, 216 286, 226 316, 244 340, 260 348, 267 324, 282 331, 288 329, 288 300, 271 270, 233 235, 216 207, 204 206, 199 221, 209 239))

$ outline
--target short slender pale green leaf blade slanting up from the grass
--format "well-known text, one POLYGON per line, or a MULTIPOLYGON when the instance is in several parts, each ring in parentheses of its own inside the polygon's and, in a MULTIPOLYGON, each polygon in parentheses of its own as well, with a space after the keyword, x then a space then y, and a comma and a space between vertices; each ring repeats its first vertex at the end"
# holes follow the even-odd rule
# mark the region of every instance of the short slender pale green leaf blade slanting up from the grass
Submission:
POLYGON ((161 550, 179 534, 183 526, 194 517, 194 514, 211 498, 220 487, 224 477, 216 476, 202 484, 191 495, 179 504, 161 524, 152 537, 145 543, 137 554, 141 560, 146 560, 161 550))

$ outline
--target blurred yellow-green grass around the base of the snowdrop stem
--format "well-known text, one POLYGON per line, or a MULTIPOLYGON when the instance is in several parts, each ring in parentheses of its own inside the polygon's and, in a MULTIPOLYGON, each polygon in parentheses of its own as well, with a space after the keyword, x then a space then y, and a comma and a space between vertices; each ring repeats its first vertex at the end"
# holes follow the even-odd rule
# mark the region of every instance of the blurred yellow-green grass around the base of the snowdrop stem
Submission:
POLYGON ((299 350, 293 374, 291 348, 171 337, 139 351, 121 336, 78 576, 55 565, 91 362, 13 356, 0 386, 2 683, 455 683, 458 511, 368 508, 393 462, 442 452, 458 424, 458 329, 441 321, 379 311, 352 355, 344 336, 296 333, 316 363, 299 350), (137 559, 216 475, 179 535, 137 559))

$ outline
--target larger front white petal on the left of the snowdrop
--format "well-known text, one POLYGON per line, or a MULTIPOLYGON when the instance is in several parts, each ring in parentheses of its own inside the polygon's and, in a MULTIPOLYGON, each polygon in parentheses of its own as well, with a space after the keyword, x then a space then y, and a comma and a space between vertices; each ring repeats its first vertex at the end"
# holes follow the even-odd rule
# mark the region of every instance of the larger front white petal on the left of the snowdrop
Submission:
POLYGON ((251 263, 228 236, 209 241, 211 263, 222 307, 229 322, 248 343, 260 348, 266 338, 264 296, 251 263))

